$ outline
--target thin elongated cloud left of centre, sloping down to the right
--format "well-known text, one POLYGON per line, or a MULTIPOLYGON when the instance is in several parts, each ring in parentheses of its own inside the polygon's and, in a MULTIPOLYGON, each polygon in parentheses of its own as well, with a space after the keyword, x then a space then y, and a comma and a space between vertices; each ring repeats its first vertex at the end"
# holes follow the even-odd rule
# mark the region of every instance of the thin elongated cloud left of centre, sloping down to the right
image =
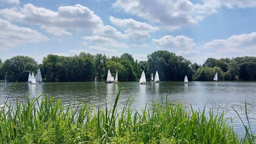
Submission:
POLYGON ((83 40, 95 42, 97 45, 107 46, 107 47, 116 47, 116 48, 128 48, 125 43, 119 43, 116 40, 111 38, 102 37, 102 36, 83 36, 83 40))

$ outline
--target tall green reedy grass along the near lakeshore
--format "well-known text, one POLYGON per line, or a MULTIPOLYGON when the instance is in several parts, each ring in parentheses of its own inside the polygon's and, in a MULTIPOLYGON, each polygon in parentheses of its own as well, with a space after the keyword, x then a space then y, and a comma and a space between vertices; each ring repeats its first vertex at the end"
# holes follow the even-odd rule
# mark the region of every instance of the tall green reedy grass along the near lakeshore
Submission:
POLYGON ((142 112, 130 108, 129 97, 117 111, 120 91, 121 85, 110 109, 82 102, 65 106, 43 95, 15 108, 5 105, 0 109, 0 143, 255 144, 250 126, 244 125, 246 136, 240 139, 224 112, 187 111, 181 103, 168 103, 167 96, 142 112))

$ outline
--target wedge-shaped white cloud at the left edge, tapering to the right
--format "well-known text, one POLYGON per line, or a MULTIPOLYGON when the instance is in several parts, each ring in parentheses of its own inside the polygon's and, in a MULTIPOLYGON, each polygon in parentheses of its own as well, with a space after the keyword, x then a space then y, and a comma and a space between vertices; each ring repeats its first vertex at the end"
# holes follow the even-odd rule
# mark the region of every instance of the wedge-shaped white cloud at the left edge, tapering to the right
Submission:
POLYGON ((25 43, 41 42, 49 40, 48 37, 27 27, 18 27, 0 18, 0 50, 10 48, 25 43))

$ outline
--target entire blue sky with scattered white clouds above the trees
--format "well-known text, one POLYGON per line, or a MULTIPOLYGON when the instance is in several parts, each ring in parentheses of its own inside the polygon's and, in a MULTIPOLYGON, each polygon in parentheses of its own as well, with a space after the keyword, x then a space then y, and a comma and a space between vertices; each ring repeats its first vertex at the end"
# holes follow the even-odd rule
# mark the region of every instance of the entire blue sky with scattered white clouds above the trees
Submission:
POLYGON ((256 56, 256 0, 0 0, 0 59, 80 52, 256 56))

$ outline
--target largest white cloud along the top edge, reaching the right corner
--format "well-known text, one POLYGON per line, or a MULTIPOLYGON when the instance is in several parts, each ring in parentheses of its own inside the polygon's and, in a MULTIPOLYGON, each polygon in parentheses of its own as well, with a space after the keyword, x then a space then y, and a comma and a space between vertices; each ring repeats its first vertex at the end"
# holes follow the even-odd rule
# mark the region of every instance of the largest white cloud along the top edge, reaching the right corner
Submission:
POLYGON ((149 22, 160 23, 171 31, 197 24, 223 6, 228 9, 256 7, 256 0, 200 0, 200 3, 194 0, 117 0, 112 6, 149 22))

